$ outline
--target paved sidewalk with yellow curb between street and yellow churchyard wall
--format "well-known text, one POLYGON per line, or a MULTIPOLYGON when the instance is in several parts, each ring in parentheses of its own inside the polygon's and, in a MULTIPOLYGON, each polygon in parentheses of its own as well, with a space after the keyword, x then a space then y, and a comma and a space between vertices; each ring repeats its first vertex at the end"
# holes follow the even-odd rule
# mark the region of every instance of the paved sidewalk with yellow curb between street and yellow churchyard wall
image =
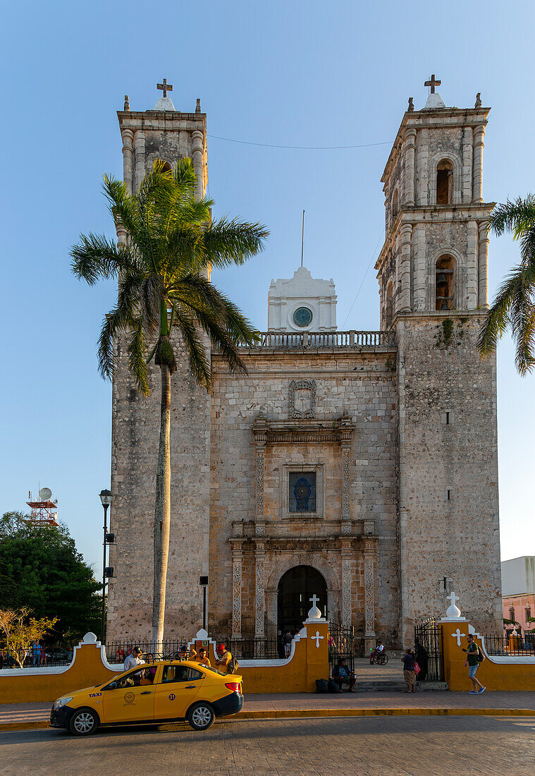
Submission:
MULTIPOLYGON (((0 731, 48 727, 50 703, 0 705, 0 731)), ((340 695, 313 693, 277 693, 246 695, 243 711, 235 719, 281 719, 330 716, 374 715, 487 715, 535 716, 535 692, 461 692, 419 691, 359 692, 340 695)))

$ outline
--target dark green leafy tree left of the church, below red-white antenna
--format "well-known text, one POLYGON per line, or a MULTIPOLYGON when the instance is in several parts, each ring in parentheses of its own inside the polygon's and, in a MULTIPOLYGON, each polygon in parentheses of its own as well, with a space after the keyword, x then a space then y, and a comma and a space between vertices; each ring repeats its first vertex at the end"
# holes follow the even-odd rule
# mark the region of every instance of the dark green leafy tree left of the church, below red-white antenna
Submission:
POLYGON ((0 518, 2 608, 29 608, 33 616, 57 618, 57 639, 98 632, 102 583, 78 553, 67 526, 31 525, 28 515, 0 518))

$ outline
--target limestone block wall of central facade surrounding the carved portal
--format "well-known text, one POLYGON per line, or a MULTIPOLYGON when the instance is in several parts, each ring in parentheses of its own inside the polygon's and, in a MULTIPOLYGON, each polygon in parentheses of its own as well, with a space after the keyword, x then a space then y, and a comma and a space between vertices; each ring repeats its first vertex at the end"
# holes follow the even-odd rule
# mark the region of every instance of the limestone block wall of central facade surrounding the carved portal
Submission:
MULTIPOLYGON (((233 613, 233 561, 230 539, 233 521, 254 525, 257 519, 254 421, 288 420, 292 379, 316 381, 315 418, 332 421, 347 412, 354 424, 350 449, 350 511, 352 555, 352 612, 362 627, 364 594, 361 550, 356 537, 363 521, 375 520, 378 536, 375 600, 376 631, 398 639, 399 584, 396 525, 396 398, 395 371, 388 354, 358 352, 251 352, 245 355, 249 374, 230 376, 212 355, 215 383, 211 401, 210 460, 210 586, 209 626, 222 637, 230 635, 233 613), (357 542, 355 544, 355 542, 357 542)), ((395 369, 395 367, 394 367, 395 369)), ((267 445, 264 453, 265 585, 276 591, 287 568, 311 563, 316 557, 322 573, 330 566, 340 590, 341 453, 336 444, 267 445), (288 519, 281 506, 281 469, 288 462, 324 467, 325 512, 317 521, 288 519), (271 540, 281 539, 278 546, 271 540), (307 556, 300 540, 317 540, 307 556), (286 543, 284 543, 286 540, 286 543), (294 542, 294 544, 292 544, 294 542), (323 544, 322 544, 323 542, 323 544), (282 545, 282 546, 281 546, 282 545), (295 545, 295 549, 292 547, 295 545), (303 561, 302 558, 305 558, 303 561), (307 559, 308 558, 308 559, 307 559), (335 561, 336 558, 336 561, 335 561), (288 565, 289 563, 289 565, 288 565)), ((242 632, 254 633, 254 556, 244 542, 242 570, 242 632), (246 603, 247 602, 247 603, 246 603)), ((314 565, 312 562, 311 565, 314 565)), ((324 573, 326 576, 326 573, 324 573)), ((328 582, 329 586, 329 582, 328 582)), ((340 611, 340 599, 336 602, 340 611)), ((266 604, 267 618, 269 604, 266 604)))

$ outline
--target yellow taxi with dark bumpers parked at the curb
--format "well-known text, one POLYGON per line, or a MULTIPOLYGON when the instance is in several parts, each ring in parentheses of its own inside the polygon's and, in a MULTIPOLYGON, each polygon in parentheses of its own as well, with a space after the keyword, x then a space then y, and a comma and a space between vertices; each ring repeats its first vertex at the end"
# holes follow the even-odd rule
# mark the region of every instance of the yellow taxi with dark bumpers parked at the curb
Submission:
POLYGON ((98 726, 186 719, 194 730, 207 730, 216 717, 237 714, 242 705, 242 677, 193 660, 162 660, 58 698, 50 726, 87 736, 98 726))

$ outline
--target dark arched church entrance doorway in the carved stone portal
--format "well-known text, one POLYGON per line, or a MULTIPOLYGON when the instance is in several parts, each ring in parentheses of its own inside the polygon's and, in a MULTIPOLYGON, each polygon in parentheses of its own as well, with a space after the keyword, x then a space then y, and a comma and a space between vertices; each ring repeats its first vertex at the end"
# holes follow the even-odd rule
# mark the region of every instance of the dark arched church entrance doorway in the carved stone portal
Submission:
POLYGON ((286 632, 292 636, 302 629, 312 607, 310 598, 316 594, 316 606, 322 617, 327 616, 327 585, 323 574, 312 566, 294 566, 282 575, 277 591, 277 631, 279 641, 286 632))

